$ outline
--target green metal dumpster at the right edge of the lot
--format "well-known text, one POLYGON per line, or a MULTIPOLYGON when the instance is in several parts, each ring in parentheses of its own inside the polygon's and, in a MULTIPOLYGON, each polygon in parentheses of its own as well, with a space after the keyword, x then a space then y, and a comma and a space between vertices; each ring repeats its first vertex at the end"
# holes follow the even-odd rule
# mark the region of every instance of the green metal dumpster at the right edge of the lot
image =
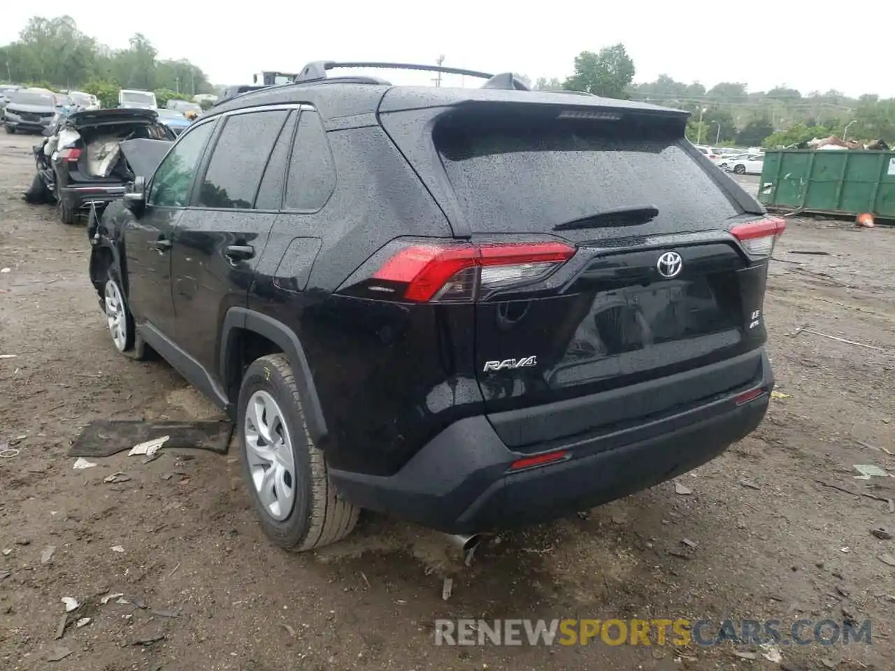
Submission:
POLYGON ((895 219, 895 151, 768 151, 758 200, 769 209, 895 219))

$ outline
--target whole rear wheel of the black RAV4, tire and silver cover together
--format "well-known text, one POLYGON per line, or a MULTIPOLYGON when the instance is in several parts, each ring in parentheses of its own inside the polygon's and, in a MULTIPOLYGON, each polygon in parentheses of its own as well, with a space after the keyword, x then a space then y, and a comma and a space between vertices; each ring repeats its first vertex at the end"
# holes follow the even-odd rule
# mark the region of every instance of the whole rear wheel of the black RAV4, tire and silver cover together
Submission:
POLYGON ((237 426, 243 475, 268 537, 281 548, 321 548, 354 529, 360 509, 339 497, 314 445, 289 362, 268 354, 245 371, 237 426))

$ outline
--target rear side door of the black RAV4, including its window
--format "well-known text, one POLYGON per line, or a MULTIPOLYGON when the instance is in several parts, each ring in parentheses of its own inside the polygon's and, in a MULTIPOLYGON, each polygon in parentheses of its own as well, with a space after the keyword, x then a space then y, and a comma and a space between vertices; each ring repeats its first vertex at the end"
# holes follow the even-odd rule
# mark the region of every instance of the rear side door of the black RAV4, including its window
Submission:
POLYGON ((277 158, 282 152, 274 148, 281 134, 291 139, 296 115, 289 107, 226 115, 200 170, 192 205, 175 231, 177 344, 212 378, 219 369, 226 311, 246 306, 255 266, 277 218, 280 194, 271 197, 266 176, 268 171, 282 174, 283 159, 277 158))

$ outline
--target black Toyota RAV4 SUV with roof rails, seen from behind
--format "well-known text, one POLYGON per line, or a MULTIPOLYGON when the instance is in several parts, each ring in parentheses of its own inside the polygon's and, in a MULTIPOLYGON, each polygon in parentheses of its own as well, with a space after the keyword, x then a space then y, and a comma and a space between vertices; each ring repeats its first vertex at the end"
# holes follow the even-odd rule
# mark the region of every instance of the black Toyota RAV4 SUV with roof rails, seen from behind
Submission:
POLYGON ((229 413, 272 539, 547 521, 758 425, 784 222, 686 113, 337 66, 215 107, 91 228, 116 348, 229 413))

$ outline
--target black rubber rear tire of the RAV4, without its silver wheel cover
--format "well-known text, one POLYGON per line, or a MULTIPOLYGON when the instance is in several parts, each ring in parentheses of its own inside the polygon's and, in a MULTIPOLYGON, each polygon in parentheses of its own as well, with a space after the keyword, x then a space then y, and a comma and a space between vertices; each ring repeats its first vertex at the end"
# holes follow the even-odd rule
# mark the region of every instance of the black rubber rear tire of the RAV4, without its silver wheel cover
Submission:
POLYGON ((329 482, 326 458, 308 433, 292 368, 283 354, 263 356, 245 371, 239 391, 237 426, 243 478, 261 528, 269 539, 281 548, 304 552, 335 543, 354 530, 360 508, 339 497, 329 482), (260 391, 267 392, 276 401, 291 438, 294 501, 282 520, 271 515, 261 502, 249 464, 245 417, 250 399, 260 391))

